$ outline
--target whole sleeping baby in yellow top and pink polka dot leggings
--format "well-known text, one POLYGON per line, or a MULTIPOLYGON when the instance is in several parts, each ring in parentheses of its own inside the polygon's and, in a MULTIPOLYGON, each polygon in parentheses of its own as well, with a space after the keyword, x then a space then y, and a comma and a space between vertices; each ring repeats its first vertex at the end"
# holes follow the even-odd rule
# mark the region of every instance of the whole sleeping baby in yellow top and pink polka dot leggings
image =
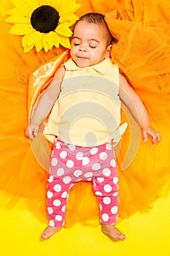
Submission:
MULTIPOLYGON (((101 231, 113 241, 123 241, 126 238, 115 227, 119 189, 113 145, 116 142, 114 135, 120 124, 120 102, 123 102, 136 118, 144 141, 151 136, 151 144, 159 143, 161 135, 152 129, 142 100, 120 74, 118 67, 112 64, 111 50, 112 35, 104 15, 83 15, 74 26, 71 59, 55 72, 50 86, 39 98, 26 129, 28 138, 34 140, 40 125, 50 115, 44 133, 53 135, 55 140, 47 183, 49 224, 42 233, 42 239, 50 238, 63 228, 69 191, 75 182, 81 181, 93 182, 100 209, 101 231), (88 82, 85 82, 89 77, 98 78, 101 82, 97 83, 98 80, 93 79, 90 89, 88 82), (76 85, 67 82, 72 78, 77 79, 76 85), (103 84, 104 80, 109 81, 107 88, 103 84), (101 88, 98 89, 98 86, 101 88), (107 95, 114 94, 114 100, 104 95, 105 90, 107 95), (110 121, 107 129, 102 130, 102 126, 98 126, 97 118, 93 118, 93 121, 89 119, 88 103, 92 111, 94 105, 103 105, 103 108, 108 110, 102 111, 102 108, 98 108, 97 111, 101 120, 110 121), (90 105, 91 103, 93 104, 90 105), (72 118, 63 113, 76 104, 78 107, 84 104, 83 110, 87 110, 87 115, 83 112, 83 118, 80 118, 77 125, 72 126, 72 118), (110 112, 114 118, 110 118, 110 112), (82 139, 82 133, 85 132, 93 132, 96 140, 90 140, 87 145, 87 141, 85 143, 82 139)), ((120 129, 120 135, 122 133, 120 129)))

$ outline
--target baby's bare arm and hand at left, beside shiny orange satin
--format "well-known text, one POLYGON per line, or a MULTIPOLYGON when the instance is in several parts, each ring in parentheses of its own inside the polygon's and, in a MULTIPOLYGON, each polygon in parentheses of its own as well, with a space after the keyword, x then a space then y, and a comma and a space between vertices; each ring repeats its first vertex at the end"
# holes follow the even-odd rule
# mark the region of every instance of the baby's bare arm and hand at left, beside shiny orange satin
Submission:
POLYGON ((33 140, 39 131, 39 126, 47 118, 50 110, 53 108, 55 101, 58 99, 61 92, 61 82, 63 80, 63 75, 65 73, 65 68, 62 66, 55 72, 53 80, 51 80, 50 85, 39 98, 33 115, 31 116, 30 123, 26 127, 25 135, 30 140, 33 140))

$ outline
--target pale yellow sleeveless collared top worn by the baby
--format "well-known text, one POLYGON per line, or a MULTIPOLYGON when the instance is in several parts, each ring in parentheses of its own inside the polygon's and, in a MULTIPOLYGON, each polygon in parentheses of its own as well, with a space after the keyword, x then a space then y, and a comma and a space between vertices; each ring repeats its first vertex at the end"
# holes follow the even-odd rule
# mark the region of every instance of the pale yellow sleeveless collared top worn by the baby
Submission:
POLYGON ((127 124, 120 125, 119 70, 110 59, 80 68, 69 59, 61 94, 55 102, 44 133, 76 146, 117 143, 127 124))

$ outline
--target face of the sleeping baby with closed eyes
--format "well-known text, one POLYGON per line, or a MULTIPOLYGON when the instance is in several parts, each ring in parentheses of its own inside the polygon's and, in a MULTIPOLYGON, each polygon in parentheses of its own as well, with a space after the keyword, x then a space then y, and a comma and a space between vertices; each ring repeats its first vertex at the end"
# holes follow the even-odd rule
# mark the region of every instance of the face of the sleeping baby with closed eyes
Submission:
POLYGON ((104 27, 85 20, 80 20, 74 27, 71 46, 72 59, 82 68, 93 66, 109 58, 111 52, 104 27))

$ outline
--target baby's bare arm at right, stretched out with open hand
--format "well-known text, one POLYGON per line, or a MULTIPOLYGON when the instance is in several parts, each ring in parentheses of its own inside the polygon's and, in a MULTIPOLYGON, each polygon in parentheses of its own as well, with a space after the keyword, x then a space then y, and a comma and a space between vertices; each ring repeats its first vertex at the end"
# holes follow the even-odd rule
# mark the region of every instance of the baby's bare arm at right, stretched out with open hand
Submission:
POLYGON ((152 137, 151 145, 153 145, 155 141, 159 143, 161 140, 161 134, 155 131, 155 129, 152 129, 150 118, 142 100, 128 84, 125 77, 121 74, 119 96, 121 101, 127 106, 128 110, 130 110, 132 116, 134 116, 136 121, 139 123, 142 129, 144 141, 147 141, 147 137, 150 135, 152 137))

